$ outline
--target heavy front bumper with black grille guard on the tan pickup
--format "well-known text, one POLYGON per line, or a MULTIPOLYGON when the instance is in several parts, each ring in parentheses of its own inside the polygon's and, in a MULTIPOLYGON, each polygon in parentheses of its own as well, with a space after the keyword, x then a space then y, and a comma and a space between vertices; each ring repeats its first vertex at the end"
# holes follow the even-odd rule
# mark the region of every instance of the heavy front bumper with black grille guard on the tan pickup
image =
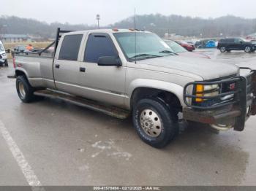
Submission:
POLYGON ((241 69, 248 69, 250 70, 250 73, 246 77, 233 77, 215 82, 192 82, 187 84, 184 87, 184 103, 187 105, 183 109, 184 119, 211 125, 231 125, 234 130, 244 130, 246 120, 250 115, 256 114, 256 71, 249 68, 241 69), (192 104, 189 104, 189 98, 198 98, 196 95, 189 95, 187 93, 187 88, 190 85, 222 85, 223 83, 232 82, 236 82, 236 85, 238 86, 236 91, 230 91, 229 94, 219 93, 219 95, 213 97, 203 98, 214 99, 233 94, 233 100, 212 106, 193 106, 192 104))

